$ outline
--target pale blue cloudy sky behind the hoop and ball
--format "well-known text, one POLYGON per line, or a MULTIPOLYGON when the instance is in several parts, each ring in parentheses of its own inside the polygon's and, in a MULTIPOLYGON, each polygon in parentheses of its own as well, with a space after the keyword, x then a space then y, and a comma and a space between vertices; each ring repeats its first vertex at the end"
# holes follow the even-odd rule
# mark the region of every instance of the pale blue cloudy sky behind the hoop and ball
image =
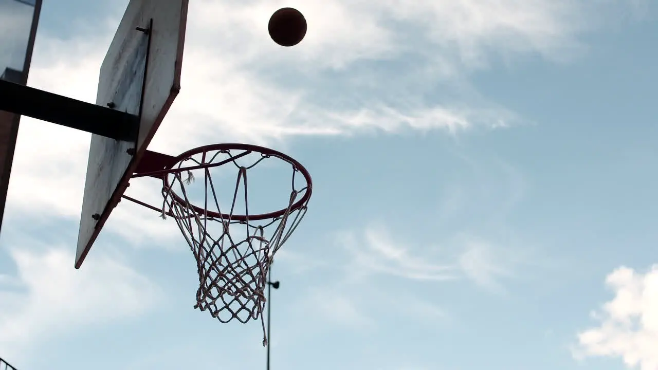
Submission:
MULTIPOLYGON (((45 1, 30 86, 95 101, 127 1, 45 1)), ((272 369, 658 367, 657 11, 631 0, 191 1, 152 143, 299 159, 272 369), (278 47, 276 9, 307 38, 278 47)), ((122 202, 82 269, 89 134, 22 120, 0 238, 18 369, 259 369, 260 323, 193 309, 174 221, 122 202)), ((157 201, 157 183, 132 184, 157 201)))

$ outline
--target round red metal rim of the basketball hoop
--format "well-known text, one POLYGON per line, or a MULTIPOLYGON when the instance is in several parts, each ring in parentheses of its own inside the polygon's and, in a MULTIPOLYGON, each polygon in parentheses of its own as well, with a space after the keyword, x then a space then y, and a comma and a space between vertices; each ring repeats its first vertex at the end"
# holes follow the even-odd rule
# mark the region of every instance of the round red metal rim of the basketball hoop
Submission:
MULTIPOLYGON (((304 207, 304 205, 308 203, 309 199, 311 198, 311 192, 313 190, 313 180, 311 180, 311 174, 309 173, 309 171, 293 157, 281 153, 280 151, 276 151, 274 149, 270 149, 268 147, 263 147, 259 145, 228 143, 228 144, 211 144, 211 145, 203 145, 200 147, 195 147, 178 155, 177 157, 174 157, 174 159, 172 159, 172 164, 170 166, 167 166, 164 171, 170 171, 174 169, 175 165, 178 165, 178 163, 181 163, 184 159, 190 158, 192 155, 207 153, 209 151, 220 151, 220 150, 245 150, 245 151, 261 153, 263 155, 267 155, 270 157, 277 157, 278 159, 282 159, 283 161, 290 163, 296 171, 301 172, 302 176, 304 176, 306 180, 306 184, 307 184, 306 191, 304 196, 290 207, 290 211, 295 211, 297 209, 304 207)), ((171 189, 170 184, 168 182, 168 176, 166 174, 163 175, 163 185, 165 186, 165 188, 171 189)), ((186 202, 185 199, 180 198, 180 196, 178 196, 176 192, 172 190, 170 194, 172 196, 172 199, 174 199, 174 201, 179 205, 183 205, 186 208, 191 208, 193 209, 193 211, 195 211, 200 215, 207 215, 210 217, 215 217, 216 219, 230 219, 234 221, 249 221, 249 220, 258 221, 265 219, 276 219, 276 217, 280 217, 284 215, 286 211, 288 211, 288 208, 286 207, 274 212, 261 213, 258 215, 249 215, 249 217, 247 217, 247 215, 228 215, 226 213, 209 211, 207 209, 197 207, 196 205, 193 204, 189 204, 188 206, 188 202, 186 202)))

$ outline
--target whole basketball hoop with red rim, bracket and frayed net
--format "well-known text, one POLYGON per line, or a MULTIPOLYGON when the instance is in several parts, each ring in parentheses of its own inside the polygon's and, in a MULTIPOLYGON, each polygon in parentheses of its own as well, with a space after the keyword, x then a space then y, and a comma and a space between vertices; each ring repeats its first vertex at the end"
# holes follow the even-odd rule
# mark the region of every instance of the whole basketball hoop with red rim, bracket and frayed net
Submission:
POLYGON ((265 346, 263 290, 267 272, 274 253, 290 238, 307 211, 312 190, 309 172, 295 159, 266 147, 215 144, 191 149, 178 157, 147 151, 132 177, 142 176, 163 181, 163 206, 124 198, 160 211, 163 218, 172 217, 178 224, 197 261, 199 289, 194 307, 210 311, 222 323, 232 319, 247 323, 260 317, 265 346), (272 159, 290 167, 290 198, 281 209, 252 215, 247 188, 249 171, 272 159), (216 184, 218 177, 223 176, 211 172, 218 167, 237 172, 229 182, 229 206, 218 199, 220 191, 226 188, 225 184, 216 184), (305 183, 297 186, 300 178, 305 183), (191 190, 191 184, 201 182, 202 188, 191 190), (236 207, 242 212, 236 211, 236 207))

